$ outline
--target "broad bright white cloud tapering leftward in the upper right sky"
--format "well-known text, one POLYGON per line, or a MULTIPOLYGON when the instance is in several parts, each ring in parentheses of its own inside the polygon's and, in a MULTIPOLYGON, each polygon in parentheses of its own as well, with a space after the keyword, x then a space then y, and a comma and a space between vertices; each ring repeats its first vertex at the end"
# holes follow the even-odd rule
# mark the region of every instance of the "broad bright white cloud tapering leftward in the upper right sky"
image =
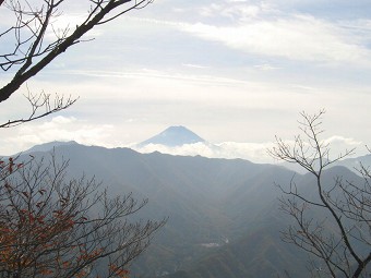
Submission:
POLYGON ((309 15, 258 20, 232 26, 183 24, 184 32, 244 52, 290 60, 370 65, 370 50, 351 34, 309 15))

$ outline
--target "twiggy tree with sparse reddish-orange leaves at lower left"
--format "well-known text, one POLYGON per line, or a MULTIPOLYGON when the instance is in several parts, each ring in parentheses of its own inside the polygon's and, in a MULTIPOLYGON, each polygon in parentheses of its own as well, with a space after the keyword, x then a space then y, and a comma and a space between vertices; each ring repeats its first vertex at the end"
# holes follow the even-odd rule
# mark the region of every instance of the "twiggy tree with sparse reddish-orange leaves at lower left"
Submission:
POLYGON ((146 200, 68 180, 68 162, 53 155, 0 164, 0 277, 128 277, 165 222, 130 221, 146 200))

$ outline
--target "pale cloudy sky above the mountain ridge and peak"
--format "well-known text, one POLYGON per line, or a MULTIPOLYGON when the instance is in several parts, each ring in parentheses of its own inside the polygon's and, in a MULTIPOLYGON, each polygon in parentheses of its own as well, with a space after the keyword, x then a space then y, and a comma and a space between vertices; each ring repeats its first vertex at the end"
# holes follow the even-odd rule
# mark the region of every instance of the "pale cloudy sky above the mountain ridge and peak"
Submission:
MULTIPOLYGON (((74 3, 55 29, 83 19, 87 1, 74 3)), ((369 0, 155 0, 94 29, 31 80, 33 93, 79 100, 2 130, 0 154, 50 141, 133 146, 184 125, 218 153, 200 145, 161 152, 264 162, 276 135, 299 133, 301 111, 325 109, 321 138, 335 154, 357 147, 363 155, 371 145, 370 14, 369 0)), ((0 17, 9 19, 3 29, 12 17, 3 8, 0 17)), ((1 52, 8 43, 0 38, 1 52)), ((11 76, 1 72, 0 86, 11 76)), ((27 87, 0 104, 2 122, 29 111, 27 87)))

